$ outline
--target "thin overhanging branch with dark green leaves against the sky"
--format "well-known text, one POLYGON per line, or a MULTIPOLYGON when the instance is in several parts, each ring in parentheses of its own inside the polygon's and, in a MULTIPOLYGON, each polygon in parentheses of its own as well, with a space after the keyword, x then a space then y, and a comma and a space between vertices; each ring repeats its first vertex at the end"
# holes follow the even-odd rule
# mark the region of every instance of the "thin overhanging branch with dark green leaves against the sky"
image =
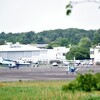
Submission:
MULTIPOLYGON (((100 0, 83 0, 83 1, 72 1, 70 0, 69 3, 66 5, 66 15, 70 15, 72 12, 72 9, 75 5, 84 3, 84 2, 94 2, 100 4, 100 0)), ((100 8, 100 5, 99 5, 100 8)))

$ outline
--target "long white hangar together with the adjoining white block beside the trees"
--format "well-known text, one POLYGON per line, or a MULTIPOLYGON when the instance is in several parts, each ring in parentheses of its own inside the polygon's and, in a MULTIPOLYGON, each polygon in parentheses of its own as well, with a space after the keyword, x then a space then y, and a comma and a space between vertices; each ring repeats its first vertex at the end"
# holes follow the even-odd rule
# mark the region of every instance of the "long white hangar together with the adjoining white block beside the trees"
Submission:
POLYGON ((69 48, 55 47, 54 49, 38 48, 20 43, 0 45, 0 57, 10 60, 47 61, 65 60, 69 48))

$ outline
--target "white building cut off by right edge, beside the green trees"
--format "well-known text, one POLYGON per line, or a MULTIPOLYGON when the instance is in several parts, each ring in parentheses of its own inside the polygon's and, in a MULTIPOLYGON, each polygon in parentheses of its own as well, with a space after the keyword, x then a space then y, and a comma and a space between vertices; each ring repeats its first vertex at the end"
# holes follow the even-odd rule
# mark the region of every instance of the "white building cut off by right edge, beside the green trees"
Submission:
POLYGON ((100 64, 100 44, 95 48, 90 48, 90 58, 93 60, 94 64, 100 64))

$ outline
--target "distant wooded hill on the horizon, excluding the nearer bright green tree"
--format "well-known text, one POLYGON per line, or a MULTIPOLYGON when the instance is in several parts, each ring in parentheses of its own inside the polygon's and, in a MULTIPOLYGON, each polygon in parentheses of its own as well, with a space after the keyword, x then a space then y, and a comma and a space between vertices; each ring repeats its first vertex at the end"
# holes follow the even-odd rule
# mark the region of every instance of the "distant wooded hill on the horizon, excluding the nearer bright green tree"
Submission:
POLYGON ((20 42, 22 44, 31 44, 31 43, 39 43, 39 44, 51 44, 52 46, 66 46, 69 44, 78 45, 80 39, 84 37, 88 37, 91 43, 99 42, 99 34, 100 30, 83 30, 83 29, 56 29, 43 31, 39 33, 35 33, 33 31, 23 32, 23 33, 4 33, 0 34, 0 41, 3 44, 3 41, 6 42, 20 42), (98 38, 98 39, 97 39, 98 38))

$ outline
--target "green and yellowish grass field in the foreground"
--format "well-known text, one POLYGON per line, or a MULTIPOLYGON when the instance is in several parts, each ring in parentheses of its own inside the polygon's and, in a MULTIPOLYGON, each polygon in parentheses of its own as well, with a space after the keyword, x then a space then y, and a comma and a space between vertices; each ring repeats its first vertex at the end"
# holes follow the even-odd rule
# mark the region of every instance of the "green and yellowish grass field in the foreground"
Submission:
POLYGON ((0 100, 100 100, 100 91, 62 91, 66 81, 1 82, 0 100))

